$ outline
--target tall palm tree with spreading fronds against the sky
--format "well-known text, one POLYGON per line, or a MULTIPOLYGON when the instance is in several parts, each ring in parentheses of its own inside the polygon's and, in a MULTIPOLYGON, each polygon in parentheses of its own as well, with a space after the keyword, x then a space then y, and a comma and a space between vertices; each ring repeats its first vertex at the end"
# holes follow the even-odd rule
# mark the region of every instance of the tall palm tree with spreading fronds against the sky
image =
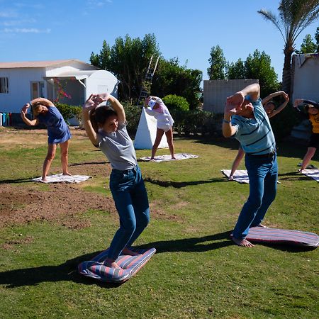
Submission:
POLYGON ((266 20, 274 23, 284 38, 284 68, 282 71, 282 89, 290 94, 291 55, 296 49, 298 35, 319 16, 319 0, 281 0, 279 17, 271 11, 259 10, 266 20))

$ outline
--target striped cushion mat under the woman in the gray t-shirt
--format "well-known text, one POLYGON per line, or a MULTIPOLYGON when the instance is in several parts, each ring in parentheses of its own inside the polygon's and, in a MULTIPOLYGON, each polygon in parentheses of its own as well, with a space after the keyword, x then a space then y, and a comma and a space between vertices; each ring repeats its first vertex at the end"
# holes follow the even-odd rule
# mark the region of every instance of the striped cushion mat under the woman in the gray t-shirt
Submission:
POLYGON ((155 248, 134 251, 140 252, 140 254, 138 256, 122 254, 118 257, 118 259, 116 259, 116 264, 118 264, 121 269, 106 267, 103 264, 108 252, 108 250, 104 250, 88 262, 82 262, 79 264, 78 271, 84 276, 88 276, 99 281, 121 284, 130 279, 131 276, 136 274, 143 266, 145 266, 152 255, 156 252, 155 248))

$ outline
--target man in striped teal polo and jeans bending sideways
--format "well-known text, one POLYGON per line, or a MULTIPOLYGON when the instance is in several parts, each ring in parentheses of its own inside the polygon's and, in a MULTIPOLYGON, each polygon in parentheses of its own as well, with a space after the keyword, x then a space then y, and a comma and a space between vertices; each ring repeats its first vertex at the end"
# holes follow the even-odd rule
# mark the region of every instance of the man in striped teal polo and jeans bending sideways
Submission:
POLYGON ((259 93, 259 84, 251 84, 228 97, 223 119, 225 138, 236 138, 246 153, 250 196, 233 230, 233 241, 245 247, 254 246, 245 237, 250 227, 262 227, 267 209, 276 197, 278 177, 274 133, 259 93))

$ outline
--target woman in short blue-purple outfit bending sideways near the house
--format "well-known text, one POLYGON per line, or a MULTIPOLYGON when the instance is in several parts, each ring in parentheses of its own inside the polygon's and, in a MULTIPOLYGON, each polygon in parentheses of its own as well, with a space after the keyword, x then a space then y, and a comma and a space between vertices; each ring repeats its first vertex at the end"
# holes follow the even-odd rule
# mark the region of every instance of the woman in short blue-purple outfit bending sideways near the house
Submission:
POLYGON ((71 175, 67 170, 67 152, 69 150, 69 139, 72 137, 69 132, 69 127, 65 123, 64 118, 60 111, 54 106, 54 104, 44 98, 33 99, 29 103, 26 103, 21 109, 21 118, 27 125, 38 125, 43 123, 47 125, 48 136, 48 149, 47 157, 43 163, 42 181, 47 181, 47 173, 49 172, 52 160, 55 158, 55 152, 57 150, 57 144, 61 147, 61 164, 63 175, 71 175), (32 107, 33 120, 29 120, 26 117, 28 108, 32 107))

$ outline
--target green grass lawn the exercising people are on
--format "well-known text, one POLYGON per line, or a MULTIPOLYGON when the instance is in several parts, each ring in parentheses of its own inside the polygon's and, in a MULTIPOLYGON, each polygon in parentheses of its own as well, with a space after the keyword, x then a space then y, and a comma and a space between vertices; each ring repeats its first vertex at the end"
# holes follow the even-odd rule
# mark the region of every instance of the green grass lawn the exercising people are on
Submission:
MULTIPOLYGON (((45 144, 34 146, 7 150, 0 141, 0 193, 4 184, 50 191, 52 185, 26 182, 40 176, 46 153, 45 144)), ((318 250, 248 249, 229 240, 249 191, 220 173, 230 169, 237 142, 177 138, 175 148, 200 157, 140 162, 152 210, 136 245, 157 254, 136 276, 112 286, 76 272, 79 262, 108 247, 118 227, 108 212, 79 213, 91 223, 79 229, 46 220, 9 225, 0 235, 0 318, 318 318, 318 250)), ((296 174, 305 152, 279 145, 281 184, 266 225, 319 233, 318 182, 296 174)), ((87 139, 74 137, 71 165, 103 160, 87 139)), ((318 152, 312 164, 319 166, 318 152)), ((57 156, 52 169, 59 165, 57 156)), ((79 187, 110 196, 107 185, 97 176, 79 187)))

